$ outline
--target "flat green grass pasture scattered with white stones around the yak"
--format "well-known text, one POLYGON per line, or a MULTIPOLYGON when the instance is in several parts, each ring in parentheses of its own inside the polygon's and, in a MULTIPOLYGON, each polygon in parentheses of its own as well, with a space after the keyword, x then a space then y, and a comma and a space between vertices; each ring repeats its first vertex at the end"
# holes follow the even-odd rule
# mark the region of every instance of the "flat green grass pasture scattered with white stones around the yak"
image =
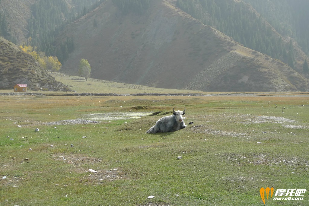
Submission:
MULTIPOLYGON (((264 205, 261 187, 308 189, 307 99, 0 96, 0 205, 264 205), (176 132, 145 133, 160 114, 44 124, 175 105, 186 107, 187 124, 176 132)), ((309 195, 265 202, 308 205, 309 195)))

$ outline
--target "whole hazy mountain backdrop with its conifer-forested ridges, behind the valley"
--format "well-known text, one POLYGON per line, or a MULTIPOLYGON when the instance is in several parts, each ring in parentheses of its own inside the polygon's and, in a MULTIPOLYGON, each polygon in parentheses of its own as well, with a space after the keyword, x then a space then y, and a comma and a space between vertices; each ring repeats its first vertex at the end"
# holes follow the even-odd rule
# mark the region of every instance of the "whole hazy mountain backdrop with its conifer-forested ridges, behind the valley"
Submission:
MULTIPOLYGON (((304 12, 296 12, 302 8, 301 3, 22 2, 30 8, 25 15, 19 12, 23 17, 16 20, 27 22, 21 32, 24 39, 31 36, 29 44, 48 55, 57 55, 62 72, 77 74, 83 58, 91 65, 91 77, 124 83, 204 91, 309 90, 308 76, 303 71, 308 58, 304 45, 309 36, 306 27, 300 29, 295 23, 306 17, 302 16, 304 12), (53 16, 52 11, 58 14, 53 16), (38 26, 39 22, 43 24, 38 26)), ((0 5, 14 8, 8 0, 0 1, 0 5)), ((0 9, 0 17, 6 11, 0 9)), ((10 28, 17 25, 9 15, 6 20, 10 28)))

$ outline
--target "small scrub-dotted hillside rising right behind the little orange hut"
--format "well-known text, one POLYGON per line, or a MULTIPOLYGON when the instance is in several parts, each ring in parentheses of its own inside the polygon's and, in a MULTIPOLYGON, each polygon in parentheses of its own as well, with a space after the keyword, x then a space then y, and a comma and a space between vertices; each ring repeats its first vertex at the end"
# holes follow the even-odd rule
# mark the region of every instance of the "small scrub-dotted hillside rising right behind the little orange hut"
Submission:
POLYGON ((15 84, 27 84, 30 90, 69 90, 49 75, 30 54, 0 37, 0 88, 13 90, 15 84))

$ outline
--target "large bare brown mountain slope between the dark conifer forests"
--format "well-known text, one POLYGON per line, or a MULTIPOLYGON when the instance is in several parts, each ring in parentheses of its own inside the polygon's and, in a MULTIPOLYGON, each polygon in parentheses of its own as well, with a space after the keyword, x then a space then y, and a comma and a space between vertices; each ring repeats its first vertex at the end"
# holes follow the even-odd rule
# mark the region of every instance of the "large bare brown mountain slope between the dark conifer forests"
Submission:
POLYGON ((122 15, 107 0, 67 26, 58 43, 73 37, 75 50, 63 70, 77 74, 84 58, 92 77, 118 82, 206 91, 308 90, 295 70, 204 25, 175 1, 150 4, 145 14, 122 15))

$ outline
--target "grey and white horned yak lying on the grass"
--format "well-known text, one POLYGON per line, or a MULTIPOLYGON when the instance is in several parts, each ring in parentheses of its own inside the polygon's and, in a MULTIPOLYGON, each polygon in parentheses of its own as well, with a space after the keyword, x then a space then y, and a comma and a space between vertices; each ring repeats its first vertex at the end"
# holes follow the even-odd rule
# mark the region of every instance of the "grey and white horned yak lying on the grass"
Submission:
POLYGON ((184 111, 175 111, 174 109, 175 107, 171 116, 160 118, 146 133, 174 132, 185 128, 186 125, 182 116, 184 115, 184 111, 186 111, 186 107, 184 107, 184 111))

